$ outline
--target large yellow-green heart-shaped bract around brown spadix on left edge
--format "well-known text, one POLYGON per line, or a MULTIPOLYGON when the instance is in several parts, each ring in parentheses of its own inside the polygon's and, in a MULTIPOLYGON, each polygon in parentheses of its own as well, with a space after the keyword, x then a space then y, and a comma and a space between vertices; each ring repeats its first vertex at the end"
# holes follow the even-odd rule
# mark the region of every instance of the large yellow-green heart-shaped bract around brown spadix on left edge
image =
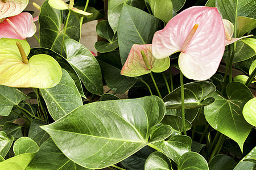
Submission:
POLYGON ((11 87, 49 88, 61 79, 61 67, 51 56, 39 54, 23 63, 16 42, 20 42, 26 56, 30 52, 27 41, 0 39, 0 84, 11 87), (8 69, 8 71, 6 71, 8 69))

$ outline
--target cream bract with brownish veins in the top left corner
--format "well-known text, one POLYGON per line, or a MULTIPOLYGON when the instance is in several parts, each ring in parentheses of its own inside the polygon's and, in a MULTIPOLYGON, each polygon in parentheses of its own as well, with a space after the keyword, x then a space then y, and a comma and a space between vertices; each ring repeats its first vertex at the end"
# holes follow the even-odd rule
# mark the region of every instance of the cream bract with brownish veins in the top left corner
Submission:
POLYGON ((28 0, 8 0, 6 2, 0 2, 0 23, 1 19, 5 19, 9 16, 18 15, 26 8, 28 0))

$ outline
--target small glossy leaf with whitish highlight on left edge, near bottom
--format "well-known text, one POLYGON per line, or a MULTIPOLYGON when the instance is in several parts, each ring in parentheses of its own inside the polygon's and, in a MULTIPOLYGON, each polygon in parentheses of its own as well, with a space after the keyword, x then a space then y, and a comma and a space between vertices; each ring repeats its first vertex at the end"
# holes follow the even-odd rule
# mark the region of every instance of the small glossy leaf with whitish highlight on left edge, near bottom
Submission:
POLYGON ((5 158, 13 144, 13 136, 7 137, 5 131, 0 131, 0 155, 5 158))

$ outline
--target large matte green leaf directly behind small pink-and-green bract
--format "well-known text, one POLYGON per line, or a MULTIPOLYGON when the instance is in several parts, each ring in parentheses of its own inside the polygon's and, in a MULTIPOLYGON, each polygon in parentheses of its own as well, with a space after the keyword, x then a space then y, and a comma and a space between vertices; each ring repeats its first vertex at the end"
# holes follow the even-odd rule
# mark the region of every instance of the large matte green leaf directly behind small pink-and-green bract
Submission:
POLYGON ((163 28, 162 20, 138 8, 123 5, 117 28, 122 65, 133 44, 150 44, 154 33, 161 28, 163 28))

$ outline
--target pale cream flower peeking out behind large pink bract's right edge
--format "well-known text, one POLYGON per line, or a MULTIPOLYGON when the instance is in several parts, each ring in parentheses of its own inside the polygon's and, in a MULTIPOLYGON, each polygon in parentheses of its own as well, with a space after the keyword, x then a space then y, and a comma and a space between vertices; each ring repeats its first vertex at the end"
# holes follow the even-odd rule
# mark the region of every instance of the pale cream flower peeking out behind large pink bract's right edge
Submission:
POLYGON ((232 44, 233 42, 236 42, 238 40, 241 40, 243 38, 246 37, 251 37, 253 35, 247 35, 247 36, 243 36, 243 37, 239 37, 239 38, 232 38, 233 33, 234 33, 234 25, 232 24, 232 22, 230 22, 227 19, 223 20, 223 24, 224 24, 224 29, 225 29, 225 45, 229 45, 232 44))

